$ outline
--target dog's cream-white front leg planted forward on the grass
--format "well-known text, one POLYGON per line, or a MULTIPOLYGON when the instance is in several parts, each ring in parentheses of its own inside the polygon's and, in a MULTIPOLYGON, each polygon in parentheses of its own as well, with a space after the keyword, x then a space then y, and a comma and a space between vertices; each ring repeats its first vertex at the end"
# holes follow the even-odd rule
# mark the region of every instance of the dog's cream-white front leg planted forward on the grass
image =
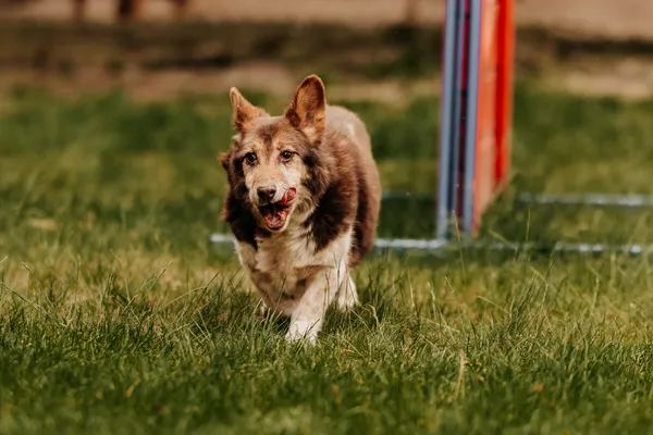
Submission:
POLYGON ((311 344, 316 343, 326 309, 335 298, 342 281, 347 278, 340 276, 338 269, 326 268, 313 275, 312 282, 291 314, 287 340, 306 338, 311 344))

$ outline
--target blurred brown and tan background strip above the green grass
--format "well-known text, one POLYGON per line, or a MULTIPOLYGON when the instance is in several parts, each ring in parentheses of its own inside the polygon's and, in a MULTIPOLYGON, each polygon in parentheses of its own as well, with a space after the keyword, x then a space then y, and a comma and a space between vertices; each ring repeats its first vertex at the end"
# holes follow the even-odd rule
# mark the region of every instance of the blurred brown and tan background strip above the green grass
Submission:
MULTIPOLYGON (((650 91, 653 69, 633 58, 650 60, 653 2, 516 4, 519 77, 567 66, 570 90, 650 91), (596 59, 607 55, 624 59, 596 59)), ((232 84, 287 94, 321 70, 357 85, 338 97, 396 100, 411 95, 398 73, 411 91, 438 92, 443 15, 444 0, 0 0, 0 89, 70 90, 74 76, 77 90, 139 98, 232 84)))

